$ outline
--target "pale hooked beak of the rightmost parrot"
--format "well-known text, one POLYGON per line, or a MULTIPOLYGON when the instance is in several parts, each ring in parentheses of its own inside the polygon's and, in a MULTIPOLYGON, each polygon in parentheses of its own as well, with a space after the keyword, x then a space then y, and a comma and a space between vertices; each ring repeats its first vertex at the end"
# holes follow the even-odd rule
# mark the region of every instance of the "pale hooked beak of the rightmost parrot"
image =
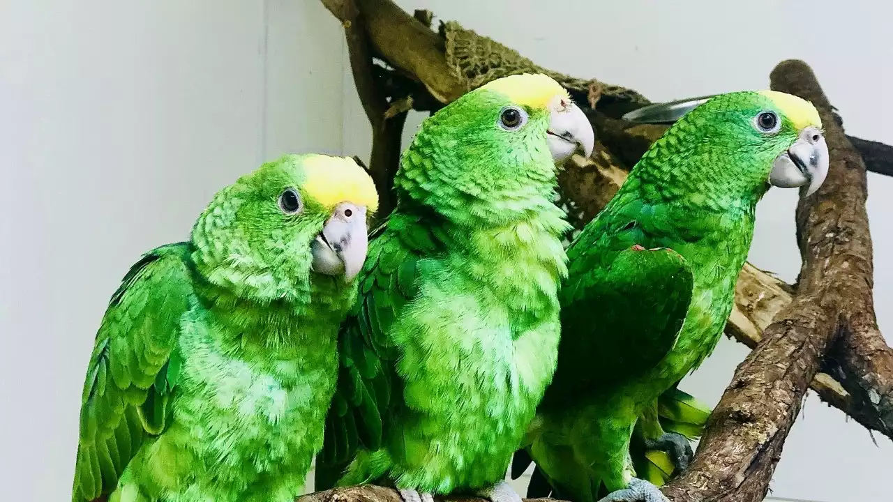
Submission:
POLYGON ((780 188, 808 186, 806 196, 811 196, 828 176, 828 162, 828 144, 822 130, 807 127, 787 152, 775 158, 769 183, 780 188))

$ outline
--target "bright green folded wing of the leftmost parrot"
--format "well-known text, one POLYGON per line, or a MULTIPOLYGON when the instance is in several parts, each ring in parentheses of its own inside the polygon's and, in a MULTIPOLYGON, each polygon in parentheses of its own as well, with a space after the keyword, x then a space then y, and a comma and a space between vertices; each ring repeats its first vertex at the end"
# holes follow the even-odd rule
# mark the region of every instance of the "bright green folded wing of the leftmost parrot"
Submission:
POLYGON ((109 302, 81 397, 75 502, 113 491, 146 435, 165 429, 179 322, 193 295, 189 251, 188 243, 150 251, 109 302))

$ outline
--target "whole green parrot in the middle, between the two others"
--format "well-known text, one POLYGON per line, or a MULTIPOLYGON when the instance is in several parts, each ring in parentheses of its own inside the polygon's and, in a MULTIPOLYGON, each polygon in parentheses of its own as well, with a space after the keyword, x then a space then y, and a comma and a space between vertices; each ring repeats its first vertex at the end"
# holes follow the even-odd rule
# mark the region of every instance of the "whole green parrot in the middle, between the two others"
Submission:
POLYGON ((570 225, 556 163, 595 134, 542 74, 494 79, 422 122, 339 332, 316 489, 520 502, 505 482, 555 371, 570 225))

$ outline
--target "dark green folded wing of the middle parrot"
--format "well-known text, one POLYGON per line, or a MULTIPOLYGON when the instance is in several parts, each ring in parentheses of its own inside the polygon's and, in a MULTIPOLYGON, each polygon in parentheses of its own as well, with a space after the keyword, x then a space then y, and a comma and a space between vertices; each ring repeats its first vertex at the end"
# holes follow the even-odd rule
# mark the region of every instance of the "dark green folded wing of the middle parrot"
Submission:
POLYGON ((403 403, 390 326, 415 297, 417 269, 439 252, 442 237, 424 219, 399 213, 372 232, 360 295, 338 332, 338 389, 316 457, 316 489, 333 487, 360 449, 377 450, 387 437, 403 403))

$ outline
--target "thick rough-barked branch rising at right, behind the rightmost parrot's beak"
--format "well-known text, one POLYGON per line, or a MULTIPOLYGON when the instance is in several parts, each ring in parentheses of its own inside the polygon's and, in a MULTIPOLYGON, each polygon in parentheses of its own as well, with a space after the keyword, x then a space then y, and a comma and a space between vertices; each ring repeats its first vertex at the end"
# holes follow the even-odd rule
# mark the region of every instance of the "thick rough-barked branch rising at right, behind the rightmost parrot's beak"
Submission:
POLYGON ((819 109, 831 155, 828 179, 797 207, 803 257, 797 291, 739 365, 689 470, 664 487, 673 502, 763 500, 822 357, 850 331, 874 326, 864 165, 805 63, 780 63, 772 88, 819 109))

